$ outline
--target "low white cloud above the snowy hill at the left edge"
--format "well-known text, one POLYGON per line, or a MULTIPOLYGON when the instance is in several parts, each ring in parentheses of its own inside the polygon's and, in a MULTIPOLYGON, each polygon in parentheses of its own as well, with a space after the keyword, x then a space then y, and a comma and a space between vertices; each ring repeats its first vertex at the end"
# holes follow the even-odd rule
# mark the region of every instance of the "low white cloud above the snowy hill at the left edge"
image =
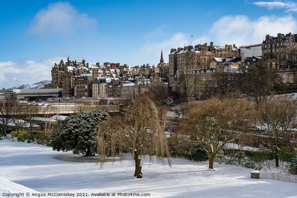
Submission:
POLYGON ((54 63, 64 57, 52 57, 40 61, 0 62, 0 88, 11 88, 17 85, 32 84, 43 80, 51 80, 50 70, 54 63))

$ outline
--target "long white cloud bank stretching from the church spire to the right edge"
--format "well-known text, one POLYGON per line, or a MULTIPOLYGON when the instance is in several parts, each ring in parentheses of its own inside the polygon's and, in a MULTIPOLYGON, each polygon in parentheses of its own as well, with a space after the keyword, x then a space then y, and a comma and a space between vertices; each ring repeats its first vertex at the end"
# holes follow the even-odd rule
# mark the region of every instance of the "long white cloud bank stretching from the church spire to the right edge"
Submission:
MULTIPOLYGON (((160 26, 152 32, 158 32, 160 26)), ((297 20, 291 16, 261 16, 250 19, 247 15, 228 15, 218 19, 208 30, 207 35, 195 34, 192 45, 204 44, 213 41, 214 45, 225 46, 225 44, 237 47, 261 43, 266 34, 277 36, 278 33, 288 34, 297 32, 297 20), (198 38, 197 38, 198 37, 198 38)), ((147 41, 140 50, 134 53, 134 62, 158 63, 160 50, 163 49, 164 61, 168 62, 168 54, 171 48, 188 46, 191 43, 191 35, 183 32, 173 34, 173 36, 163 42, 154 42, 153 39, 147 41)))

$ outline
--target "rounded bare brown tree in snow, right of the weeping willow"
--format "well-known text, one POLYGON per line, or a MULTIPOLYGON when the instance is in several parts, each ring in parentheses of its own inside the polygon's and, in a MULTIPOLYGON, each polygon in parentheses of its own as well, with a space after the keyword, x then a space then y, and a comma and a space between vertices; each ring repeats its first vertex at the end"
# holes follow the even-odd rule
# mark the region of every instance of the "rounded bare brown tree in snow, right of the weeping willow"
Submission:
POLYGON ((198 143, 207 153, 209 168, 218 151, 250 128, 252 105, 247 100, 209 99, 188 109, 181 133, 186 141, 198 143))

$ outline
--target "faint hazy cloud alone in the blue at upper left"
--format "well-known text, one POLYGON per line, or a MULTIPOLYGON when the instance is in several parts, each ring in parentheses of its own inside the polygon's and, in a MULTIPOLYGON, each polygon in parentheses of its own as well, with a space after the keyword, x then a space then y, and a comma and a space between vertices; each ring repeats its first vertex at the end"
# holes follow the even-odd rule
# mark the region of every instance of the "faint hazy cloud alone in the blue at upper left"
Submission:
POLYGON ((86 13, 79 13, 68 2, 56 2, 41 9, 33 19, 28 33, 35 35, 69 35, 77 29, 94 29, 96 19, 86 13))

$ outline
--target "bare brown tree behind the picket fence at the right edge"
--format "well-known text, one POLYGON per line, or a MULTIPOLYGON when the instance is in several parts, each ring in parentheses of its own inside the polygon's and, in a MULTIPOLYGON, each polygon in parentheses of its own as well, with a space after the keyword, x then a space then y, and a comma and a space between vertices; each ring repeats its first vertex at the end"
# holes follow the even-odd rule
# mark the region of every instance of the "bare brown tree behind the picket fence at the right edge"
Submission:
POLYGON ((273 138, 275 167, 279 166, 279 148, 286 145, 289 132, 296 124, 297 102, 289 96, 271 96, 259 105, 260 124, 273 138))

